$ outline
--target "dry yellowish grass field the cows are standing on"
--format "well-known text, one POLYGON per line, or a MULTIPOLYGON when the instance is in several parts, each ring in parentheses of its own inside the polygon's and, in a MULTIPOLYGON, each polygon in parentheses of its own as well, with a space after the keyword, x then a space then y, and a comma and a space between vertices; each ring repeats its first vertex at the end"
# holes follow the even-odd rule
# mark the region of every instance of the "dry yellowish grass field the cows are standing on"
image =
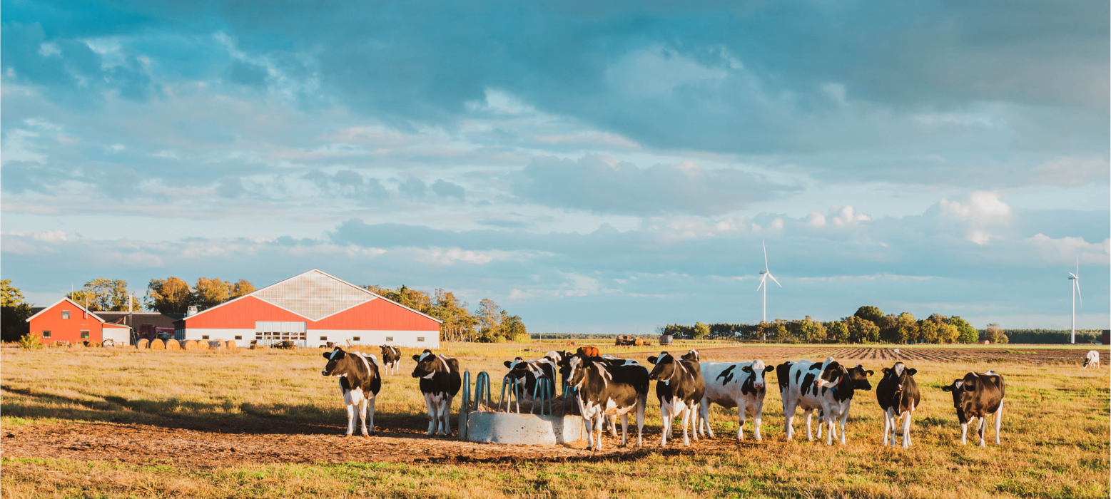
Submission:
MULTIPOLYGON (((442 352, 472 374, 491 373, 497 393, 503 360, 547 348, 442 352)), ((429 438, 408 357, 379 395, 381 435, 342 438, 346 413, 336 379, 320 376, 320 350, 3 348, 0 497, 1111 497, 1111 369, 1082 370, 1088 348, 699 348, 703 360, 769 364, 834 355, 877 373, 903 359, 922 388, 914 447, 880 446, 874 390, 858 393, 847 446, 808 442, 804 432, 785 442, 774 388, 762 442, 739 444, 735 410, 715 407, 717 439, 660 449, 654 396, 644 449, 609 437, 601 454, 429 438), (989 368, 1007 377, 1003 442, 962 447, 940 387, 989 368)), ((658 350, 602 346, 642 363, 658 350)))

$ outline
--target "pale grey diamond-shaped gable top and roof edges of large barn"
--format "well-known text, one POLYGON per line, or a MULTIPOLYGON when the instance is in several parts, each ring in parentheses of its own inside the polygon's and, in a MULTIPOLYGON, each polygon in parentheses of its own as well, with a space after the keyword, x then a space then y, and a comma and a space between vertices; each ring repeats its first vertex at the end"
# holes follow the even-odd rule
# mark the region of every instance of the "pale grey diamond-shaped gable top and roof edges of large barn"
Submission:
POLYGON ((271 284, 236 299, 224 302, 212 308, 207 308, 197 314, 184 317, 181 320, 188 322, 189 319, 206 314, 209 310, 214 310, 248 296, 253 296, 312 322, 339 314, 372 299, 384 299, 438 323, 443 323, 443 320, 409 308, 392 299, 372 293, 364 287, 356 286, 354 284, 348 283, 347 281, 329 275, 317 268, 271 284))

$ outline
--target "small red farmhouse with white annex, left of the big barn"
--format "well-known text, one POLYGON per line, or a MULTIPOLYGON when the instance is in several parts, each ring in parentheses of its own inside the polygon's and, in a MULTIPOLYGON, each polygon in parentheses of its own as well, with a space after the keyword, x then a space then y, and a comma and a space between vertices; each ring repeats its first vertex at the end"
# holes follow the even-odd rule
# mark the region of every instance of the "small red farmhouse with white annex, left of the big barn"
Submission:
POLYGON ((131 336, 129 326, 108 323, 69 298, 62 298, 49 307, 32 308, 31 312, 31 316, 27 318, 28 328, 42 344, 100 343, 104 339, 127 344, 131 336))

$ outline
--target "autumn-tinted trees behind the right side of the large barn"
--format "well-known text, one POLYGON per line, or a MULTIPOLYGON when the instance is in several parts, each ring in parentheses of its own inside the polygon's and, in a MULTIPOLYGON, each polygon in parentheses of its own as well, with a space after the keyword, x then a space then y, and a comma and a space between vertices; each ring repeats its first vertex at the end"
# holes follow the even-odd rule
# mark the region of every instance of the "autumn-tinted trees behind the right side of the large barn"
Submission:
POLYGON ((451 292, 437 288, 432 295, 401 285, 397 289, 368 285, 371 293, 392 299, 401 305, 440 320, 441 339, 444 342, 503 343, 523 342, 529 338, 524 322, 518 315, 509 315, 494 301, 482 298, 472 312, 467 302, 460 302, 451 292))

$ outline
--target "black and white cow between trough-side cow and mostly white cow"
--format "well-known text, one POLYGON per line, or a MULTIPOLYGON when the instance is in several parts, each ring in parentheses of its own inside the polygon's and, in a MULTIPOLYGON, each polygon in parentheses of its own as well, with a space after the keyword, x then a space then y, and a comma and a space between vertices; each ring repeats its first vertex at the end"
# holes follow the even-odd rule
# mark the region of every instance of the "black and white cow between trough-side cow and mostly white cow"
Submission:
MULTIPOLYGON (((697 360, 698 353, 691 350, 683 357, 688 356, 691 359, 675 358, 667 352, 661 352, 659 356, 648 358, 649 363, 655 365, 649 379, 657 381, 655 396, 660 399, 660 417, 663 419, 660 447, 668 445, 668 436, 671 435, 671 419, 675 416, 683 416, 684 446, 691 445, 687 429, 698 429, 698 406, 705 394, 705 383, 702 380, 702 368, 697 360)), ((694 431, 694 439, 698 440, 697 431, 694 431)))

